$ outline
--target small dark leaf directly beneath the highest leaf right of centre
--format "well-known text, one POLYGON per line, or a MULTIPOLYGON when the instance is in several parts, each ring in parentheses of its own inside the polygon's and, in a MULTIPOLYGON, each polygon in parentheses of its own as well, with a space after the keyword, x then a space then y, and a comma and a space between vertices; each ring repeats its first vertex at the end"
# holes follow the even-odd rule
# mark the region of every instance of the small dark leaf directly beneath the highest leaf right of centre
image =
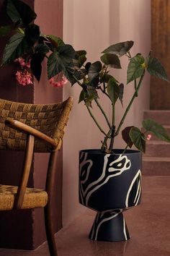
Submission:
POLYGON ((121 69, 120 59, 115 54, 104 54, 100 59, 104 64, 109 65, 110 67, 121 69))

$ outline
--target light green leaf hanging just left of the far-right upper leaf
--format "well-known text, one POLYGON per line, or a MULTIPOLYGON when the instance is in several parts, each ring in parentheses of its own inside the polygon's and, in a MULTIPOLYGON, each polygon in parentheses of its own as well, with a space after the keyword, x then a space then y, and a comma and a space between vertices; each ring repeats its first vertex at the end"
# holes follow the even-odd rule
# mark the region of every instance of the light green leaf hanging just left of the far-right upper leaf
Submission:
POLYGON ((141 54, 137 54, 130 59, 127 71, 127 84, 138 77, 141 77, 144 70, 145 59, 141 54))

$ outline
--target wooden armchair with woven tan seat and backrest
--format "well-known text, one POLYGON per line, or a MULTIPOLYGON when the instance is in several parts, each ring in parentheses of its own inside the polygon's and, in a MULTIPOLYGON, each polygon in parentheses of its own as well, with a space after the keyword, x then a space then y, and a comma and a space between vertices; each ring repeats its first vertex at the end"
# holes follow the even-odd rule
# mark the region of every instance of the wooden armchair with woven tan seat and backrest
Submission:
POLYGON ((19 186, 0 185, 0 210, 44 208, 50 256, 57 255, 52 223, 55 153, 61 148, 72 98, 55 104, 27 104, 0 99, 0 150, 25 150, 19 186), (50 153, 45 190, 27 188, 32 155, 50 153))

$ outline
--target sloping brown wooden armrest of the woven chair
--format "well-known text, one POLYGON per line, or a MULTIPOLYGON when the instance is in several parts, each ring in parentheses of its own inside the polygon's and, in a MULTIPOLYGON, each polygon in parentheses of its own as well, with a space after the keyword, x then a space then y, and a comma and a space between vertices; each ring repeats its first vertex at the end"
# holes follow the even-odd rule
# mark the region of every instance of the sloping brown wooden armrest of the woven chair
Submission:
POLYGON ((6 122, 11 124, 13 127, 16 127, 17 129, 21 129, 22 131, 29 133, 30 135, 38 137, 41 140, 45 140, 45 142, 48 142, 50 145, 52 145, 54 149, 58 147, 58 144, 51 137, 45 135, 35 128, 30 127, 27 124, 23 124, 21 121, 17 121, 15 119, 7 119, 6 122))

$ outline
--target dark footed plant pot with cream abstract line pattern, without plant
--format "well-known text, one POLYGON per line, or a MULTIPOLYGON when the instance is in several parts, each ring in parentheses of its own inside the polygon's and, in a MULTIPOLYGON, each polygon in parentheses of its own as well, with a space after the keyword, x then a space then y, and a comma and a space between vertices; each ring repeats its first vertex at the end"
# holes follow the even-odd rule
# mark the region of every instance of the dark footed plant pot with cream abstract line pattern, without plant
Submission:
POLYGON ((79 202, 97 211, 89 238, 130 239, 123 211, 140 204, 142 154, 138 150, 79 152, 79 202))

